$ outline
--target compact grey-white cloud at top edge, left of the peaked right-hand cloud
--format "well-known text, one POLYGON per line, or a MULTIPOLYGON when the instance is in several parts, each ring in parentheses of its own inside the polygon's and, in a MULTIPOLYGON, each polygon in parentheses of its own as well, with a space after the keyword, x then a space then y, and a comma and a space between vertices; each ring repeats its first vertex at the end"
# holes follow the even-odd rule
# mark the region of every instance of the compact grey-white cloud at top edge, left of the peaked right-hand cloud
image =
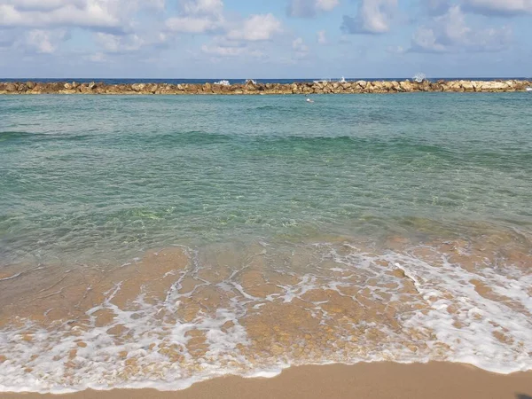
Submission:
POLYGON ((353 35, 386 33, 396 8, 397 0, 361 0, 355 17, 344 15, 342 29, 353 35))

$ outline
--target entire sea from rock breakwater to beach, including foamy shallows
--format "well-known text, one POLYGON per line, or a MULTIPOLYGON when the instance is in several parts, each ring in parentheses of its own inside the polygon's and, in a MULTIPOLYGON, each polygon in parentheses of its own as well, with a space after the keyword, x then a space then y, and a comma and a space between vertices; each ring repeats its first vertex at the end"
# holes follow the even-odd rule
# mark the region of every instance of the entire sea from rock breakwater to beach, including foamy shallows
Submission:
POLYGON ((0 96, 0 392, 532 370, 528 93, 0 96))

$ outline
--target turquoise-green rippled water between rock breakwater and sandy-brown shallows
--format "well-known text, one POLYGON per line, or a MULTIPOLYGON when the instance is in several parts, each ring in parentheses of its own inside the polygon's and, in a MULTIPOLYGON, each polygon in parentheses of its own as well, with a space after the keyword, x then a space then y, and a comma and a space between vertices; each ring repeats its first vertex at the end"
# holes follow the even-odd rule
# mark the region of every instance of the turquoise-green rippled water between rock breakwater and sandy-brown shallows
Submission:
POLYGON ((530 231, 527 93, 0 98, 0 247, 530 231))

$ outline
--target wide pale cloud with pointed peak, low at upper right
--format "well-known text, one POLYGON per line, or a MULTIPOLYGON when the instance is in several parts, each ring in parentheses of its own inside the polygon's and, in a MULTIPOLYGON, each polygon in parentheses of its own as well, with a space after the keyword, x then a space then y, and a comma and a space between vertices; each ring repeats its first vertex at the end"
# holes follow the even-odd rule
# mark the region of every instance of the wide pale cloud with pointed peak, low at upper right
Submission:
POLYGON ((432 20, 429 27, 419 27, 412 37, 411 51, 504 51, 512 43, 509 27, 473 29, 465 21, 459 5, 432 20))

